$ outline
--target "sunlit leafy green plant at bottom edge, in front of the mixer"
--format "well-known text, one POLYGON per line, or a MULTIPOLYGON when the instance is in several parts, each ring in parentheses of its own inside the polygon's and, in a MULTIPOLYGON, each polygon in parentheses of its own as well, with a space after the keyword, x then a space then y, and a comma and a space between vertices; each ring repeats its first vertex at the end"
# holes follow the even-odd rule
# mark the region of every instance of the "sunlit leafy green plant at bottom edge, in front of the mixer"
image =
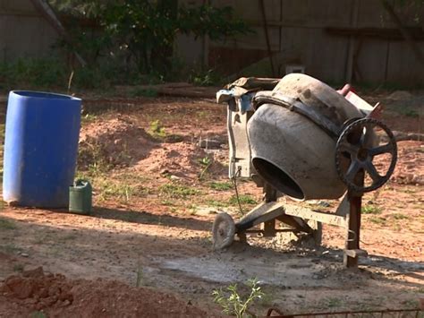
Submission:
POLYGON ((242 318, 247 313, 249 306, 253 304, 255 299, 260 299, 265 296, 261 288, 258 286, 257 279, 249 279, 246 286, 250 288, 250 294, 242 296, 239 294, 237 284, 228 286, 226 291, 222 288, 215 289, 212 292, 214 302, 223 308, 223 313, 235 315, 237 318, 242 318))

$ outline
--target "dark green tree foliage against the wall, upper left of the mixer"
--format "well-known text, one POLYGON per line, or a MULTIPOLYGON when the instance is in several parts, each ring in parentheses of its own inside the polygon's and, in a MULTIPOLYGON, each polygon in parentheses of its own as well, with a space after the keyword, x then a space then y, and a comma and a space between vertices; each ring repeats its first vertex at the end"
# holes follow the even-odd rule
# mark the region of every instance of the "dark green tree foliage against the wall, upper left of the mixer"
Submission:
MULTIPOLYGON (((169 76, 173 72, 174 40, 178 34, 221 40, 250 31, 229 6, 186 7, 176 0, 50 0, 56 11, 76 18, 72 41, 60 45, 79 52, 91 64, 98 58, 124 61, 127 71, 169 76), (98 30, 83 30, 78 19, 89 18, 98 30)), ((210 80, 205 78, 205 84, 210 80), (205 82, 206 80, 206 82, 205 82)))

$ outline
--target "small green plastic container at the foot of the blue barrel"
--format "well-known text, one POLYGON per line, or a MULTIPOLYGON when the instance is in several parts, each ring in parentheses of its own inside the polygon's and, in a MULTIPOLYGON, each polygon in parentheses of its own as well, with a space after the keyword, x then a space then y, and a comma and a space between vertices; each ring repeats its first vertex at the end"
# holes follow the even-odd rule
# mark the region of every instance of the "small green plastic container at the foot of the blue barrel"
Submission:
POLYGON ((91 213, 93 188, 86 180, 77 180, 69 187, 69 211, 80 214, 91 213))

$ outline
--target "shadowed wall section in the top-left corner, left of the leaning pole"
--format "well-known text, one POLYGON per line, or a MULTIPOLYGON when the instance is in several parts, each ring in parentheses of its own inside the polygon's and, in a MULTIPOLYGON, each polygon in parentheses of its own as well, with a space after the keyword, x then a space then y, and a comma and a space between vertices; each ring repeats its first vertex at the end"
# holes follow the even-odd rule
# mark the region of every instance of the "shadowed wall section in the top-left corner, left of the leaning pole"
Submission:
POLYGON ((0 0, 0 60, 48 56, 56 31, 30 0, 0 0))

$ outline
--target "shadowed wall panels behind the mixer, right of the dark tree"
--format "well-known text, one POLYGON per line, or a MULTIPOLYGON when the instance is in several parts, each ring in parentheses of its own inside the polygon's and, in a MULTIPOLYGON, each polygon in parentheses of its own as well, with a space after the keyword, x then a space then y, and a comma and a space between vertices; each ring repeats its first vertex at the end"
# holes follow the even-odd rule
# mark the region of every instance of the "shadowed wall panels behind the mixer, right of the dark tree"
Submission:
MULTIPOLYGON (((259 0, 212 0, 211 3, 233 6, 255 34, 209 43, 209 67, 244 76, 272 76, 259 0), (240 72, 259 60, 259 64, 240 72)), ((284 75, 287 64, 303 64, 306 73, 326 82, 345 82, 352 70, 349 65, 356 60, 360 73, 354 72, 353 76, 360 82, 424 85, 424 67, 403 40, 350 39, 326 31, 327 27, 395 28, 380 0, 264 0, 264 4, 274 76, 284 75)), ((396 12, 405 25, 424 29, 424 7, 417 11, 417 7, 405 6, 396 12)), ((424 41, 417 44, 424 53, 424 41)), ((190 47, 184 49, 188 51, 190 47)))

